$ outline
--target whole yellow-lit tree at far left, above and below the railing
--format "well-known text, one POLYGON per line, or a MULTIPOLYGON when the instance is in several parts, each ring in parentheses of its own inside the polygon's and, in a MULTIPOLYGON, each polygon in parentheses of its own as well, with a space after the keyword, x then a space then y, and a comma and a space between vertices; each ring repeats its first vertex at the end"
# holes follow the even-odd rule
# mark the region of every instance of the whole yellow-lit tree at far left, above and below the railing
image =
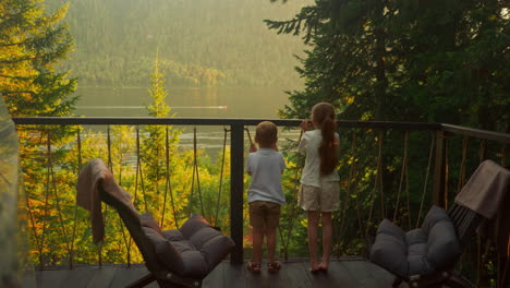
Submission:
MULTIPOLYGON (((59 69, 59 61, 73 46, 69 27, 62 24, 69 4, 47 13, 42 3, 42 0, 0 1, 0 94, 13 117, 69 116, 76 100, 69 97, 75 91, 76 79, 69 79, 69 72, 59 69)), ((17 128, 26 203, 31 216, 37 218, 31 224, 35 231, 40 232, 44 220, 56 218, 57 209, 51 208, 48 214, 38 215, 45 209, 45 195, 56 189, 47 180, 66 185, 62 189, 66 193, 61 193, 62 205, 64 199, 72 199, 75 175, 64 177, 52 171, 52 167, 65 165, 66 153, 62 147, 69 143, 66 135, 72 129, 17 128), (48 148, 41 151, 41 147, 48 148), (46 154, 50 147, 51 158, 46 154)), ((56 205, 54 199, 47 199, 49 205, 56 205)), ((47 225, 47 237, 58 239, 53 243, 39 245, 35 237, 32 239, 36 251, 32 256, 40 256, 44 263, 49 259, 53 263, 68 259, 69 251, 57 248, 65 242, 58 225, 54 220, 47 225)))

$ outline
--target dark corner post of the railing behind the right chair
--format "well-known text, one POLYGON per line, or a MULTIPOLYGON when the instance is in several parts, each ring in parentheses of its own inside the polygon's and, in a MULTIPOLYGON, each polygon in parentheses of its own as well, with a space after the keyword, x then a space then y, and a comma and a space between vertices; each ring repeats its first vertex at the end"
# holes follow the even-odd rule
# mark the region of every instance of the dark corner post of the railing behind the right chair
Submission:
POLYGON ((446 182, 446 139, 445 131, 436 131, 436 160, 434 165, 434 191, 433 204, 445 207, 445 182, 446 182))

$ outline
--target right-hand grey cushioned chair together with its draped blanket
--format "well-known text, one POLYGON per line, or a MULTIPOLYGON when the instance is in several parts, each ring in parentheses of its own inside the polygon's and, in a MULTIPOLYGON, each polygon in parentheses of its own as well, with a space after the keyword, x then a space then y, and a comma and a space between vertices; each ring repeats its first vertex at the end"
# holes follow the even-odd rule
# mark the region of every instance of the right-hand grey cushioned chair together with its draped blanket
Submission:
POLYGON ((369 249, 372 262, 397 276, 393 287, 472 287, 453 266, 462 247, 484 219, 502 209, 510 192, 510 172, 485 160, 471 176, 448 211, 433 206, 421 228, 404 232, 388 219, 377 229, 369 249))

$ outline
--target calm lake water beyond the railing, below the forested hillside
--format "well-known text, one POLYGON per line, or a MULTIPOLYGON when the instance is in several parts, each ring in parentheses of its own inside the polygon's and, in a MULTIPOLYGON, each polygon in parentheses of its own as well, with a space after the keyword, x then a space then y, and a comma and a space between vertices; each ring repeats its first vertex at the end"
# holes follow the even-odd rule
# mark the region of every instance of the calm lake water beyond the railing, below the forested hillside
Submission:
MULTIPOLYGON (((81 87, 76 94, 81 98, 75 113, 86 117, 148 117, 145 107, 151 101, 148 88, 143 87, 81 87)), ((167 104, 174 117, 276 119, 277 110, 288 105, 289 99, 280 88, 172 88, 167 104)), ((199 148, 216 154, 222 147, 223 128, 197 127, 196 130, 199 148)), ((280 133, 280 139, 298 135, 286 131, 280 133)), ((193 128, 184 128, 180 145, 193 146, 193 128)))

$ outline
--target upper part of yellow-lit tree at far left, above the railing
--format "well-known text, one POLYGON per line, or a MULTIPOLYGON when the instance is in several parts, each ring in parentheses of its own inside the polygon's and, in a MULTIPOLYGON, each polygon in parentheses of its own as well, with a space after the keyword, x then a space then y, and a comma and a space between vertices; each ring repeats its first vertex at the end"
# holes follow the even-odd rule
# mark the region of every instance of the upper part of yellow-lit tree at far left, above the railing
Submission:
POLYGON ((13 117, 72 111, 76 79, 57 70, 73 46, 61 23, 68 8, 48 14, 42 0, 0 2, 0 93, 13 117))

